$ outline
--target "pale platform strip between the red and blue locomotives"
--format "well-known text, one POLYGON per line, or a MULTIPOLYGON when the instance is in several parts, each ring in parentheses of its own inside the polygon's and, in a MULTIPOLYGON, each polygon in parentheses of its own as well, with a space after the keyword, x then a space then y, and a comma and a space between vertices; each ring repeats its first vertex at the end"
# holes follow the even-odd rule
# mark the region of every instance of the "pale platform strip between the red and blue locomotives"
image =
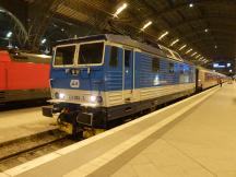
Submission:
POLYGON ((0 143, 55 129, 54 122, 40 107, 0 111, 0 143))

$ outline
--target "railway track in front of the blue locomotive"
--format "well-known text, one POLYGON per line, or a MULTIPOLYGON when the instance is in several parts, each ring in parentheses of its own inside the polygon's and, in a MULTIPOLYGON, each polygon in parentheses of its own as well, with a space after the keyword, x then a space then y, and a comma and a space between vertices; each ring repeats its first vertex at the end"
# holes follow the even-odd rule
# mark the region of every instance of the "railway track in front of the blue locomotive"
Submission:
POLYGON ((0 144, 0 172, 78 142, 59 130, 0 144))

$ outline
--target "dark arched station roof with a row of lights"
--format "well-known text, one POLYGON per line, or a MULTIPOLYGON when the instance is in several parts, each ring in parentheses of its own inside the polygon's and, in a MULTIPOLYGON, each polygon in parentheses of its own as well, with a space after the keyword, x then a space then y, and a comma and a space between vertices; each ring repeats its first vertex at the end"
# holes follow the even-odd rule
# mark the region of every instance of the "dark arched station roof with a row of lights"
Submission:
MULTIPOLYGON (((30 7, 46 7, 40 0, 22 1, 30 7)), ((236 57, 234 0, 48 0, 47 3, 49 11, 45 17, 92 26, 87 35, 93 30, 125 34, 170 47, 186 59, 200 63, 236 57), (126 10, 115 16, 123 3, 127 3, 126 10), (149 22, 151 25, 141 31, 149 22)))

